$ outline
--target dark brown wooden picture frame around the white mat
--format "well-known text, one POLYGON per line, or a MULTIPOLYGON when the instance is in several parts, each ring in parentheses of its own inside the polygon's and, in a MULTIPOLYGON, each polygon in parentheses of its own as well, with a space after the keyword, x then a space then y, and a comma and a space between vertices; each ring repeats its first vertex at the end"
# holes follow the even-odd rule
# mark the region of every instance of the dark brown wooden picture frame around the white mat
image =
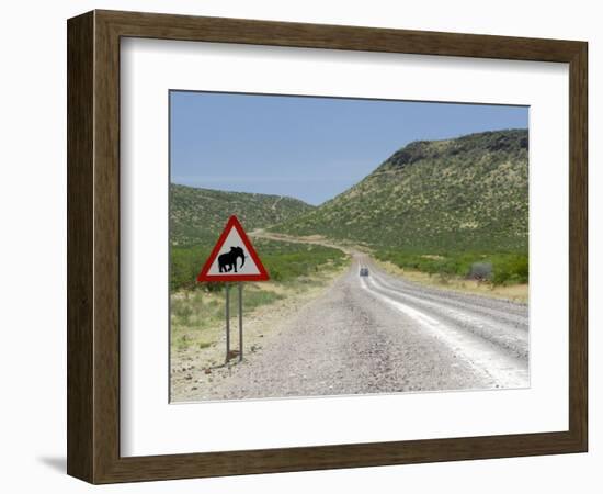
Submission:
POLYGON ((114 11, 70 19, 67 33, 70 475, 110 483, 587 451, 587 43, 114 11), (124 36, 569 64, 569 430, 120 457, 118 109, 124 36))

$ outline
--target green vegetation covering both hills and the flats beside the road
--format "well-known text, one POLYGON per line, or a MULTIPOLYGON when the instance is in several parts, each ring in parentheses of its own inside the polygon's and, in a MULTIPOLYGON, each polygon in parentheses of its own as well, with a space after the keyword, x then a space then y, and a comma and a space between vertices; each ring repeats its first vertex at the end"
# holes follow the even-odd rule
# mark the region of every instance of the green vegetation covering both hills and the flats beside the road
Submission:
MULTIPOLYGON (((277 195, 172 184, 172 292, 195 278, 226 220, 248 231, 322 235, 364 245, 399 268, 493 284, 527 282, 528 135, 526 130, 416 142, 319 207, 277 195)), ((337 249, 259 240, 273 280, 303 279, 344 255, 337 249)), ((217 290, 221 284, 204 284, 217 290)))

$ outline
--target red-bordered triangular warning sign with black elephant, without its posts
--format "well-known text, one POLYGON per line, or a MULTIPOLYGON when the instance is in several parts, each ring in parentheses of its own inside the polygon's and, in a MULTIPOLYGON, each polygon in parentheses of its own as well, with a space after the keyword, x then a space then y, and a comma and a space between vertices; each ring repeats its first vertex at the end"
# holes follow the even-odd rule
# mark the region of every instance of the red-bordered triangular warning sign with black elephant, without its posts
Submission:
POLYGON ((270 279, 237 216, 230 216, 198 273, 197 281, 265 281, 270 279))

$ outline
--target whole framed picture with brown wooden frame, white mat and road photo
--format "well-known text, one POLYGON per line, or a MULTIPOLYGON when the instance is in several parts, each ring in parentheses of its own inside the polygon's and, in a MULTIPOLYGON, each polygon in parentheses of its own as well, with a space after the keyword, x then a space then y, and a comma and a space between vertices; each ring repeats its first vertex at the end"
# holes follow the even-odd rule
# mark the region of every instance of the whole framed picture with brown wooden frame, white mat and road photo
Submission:
POLYGON ((587 451, 587 43, 68 21, 68 473, 587 451))

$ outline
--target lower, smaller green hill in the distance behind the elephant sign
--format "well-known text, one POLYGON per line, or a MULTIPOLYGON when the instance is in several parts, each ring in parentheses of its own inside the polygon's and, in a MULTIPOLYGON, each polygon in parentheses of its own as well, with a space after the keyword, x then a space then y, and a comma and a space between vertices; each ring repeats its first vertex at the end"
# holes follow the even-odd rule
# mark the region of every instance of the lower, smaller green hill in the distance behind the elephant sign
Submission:
POLYGON ((236 214, 247 231, 285 222, 314 206, 282 195, 225 192, 170 184, 171 245, 212 246, 228 216, 236 214))

